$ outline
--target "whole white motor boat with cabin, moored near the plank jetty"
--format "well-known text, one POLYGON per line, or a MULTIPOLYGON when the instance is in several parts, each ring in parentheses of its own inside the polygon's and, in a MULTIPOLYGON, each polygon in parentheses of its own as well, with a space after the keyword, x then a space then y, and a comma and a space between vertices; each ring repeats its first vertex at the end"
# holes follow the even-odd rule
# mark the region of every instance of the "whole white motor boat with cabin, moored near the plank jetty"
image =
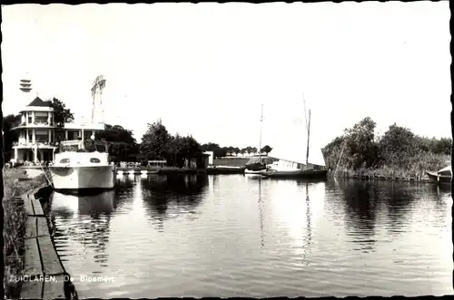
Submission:
POLYGON ((84 150, 82 140, 62 141, 49 170, 54 189, 60 192, 81 193, 115 186, 115 166, 109 163, 107 151, 84 150))

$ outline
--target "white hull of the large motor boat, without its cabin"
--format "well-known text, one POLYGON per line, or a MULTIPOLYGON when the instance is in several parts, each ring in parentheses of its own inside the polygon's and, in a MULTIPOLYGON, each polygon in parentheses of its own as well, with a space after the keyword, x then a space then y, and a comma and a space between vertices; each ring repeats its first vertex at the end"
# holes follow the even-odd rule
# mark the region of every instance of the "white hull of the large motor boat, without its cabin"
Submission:
POLYGON ((60 192, 102 191, 114 189, 114 166, 51 166, 54 189, 60 192))

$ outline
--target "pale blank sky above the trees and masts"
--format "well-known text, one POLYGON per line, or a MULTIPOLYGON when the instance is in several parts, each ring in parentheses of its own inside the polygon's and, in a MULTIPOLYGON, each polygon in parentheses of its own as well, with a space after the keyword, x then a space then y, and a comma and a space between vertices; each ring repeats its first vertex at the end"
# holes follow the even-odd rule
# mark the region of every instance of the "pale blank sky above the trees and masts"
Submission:
POLYGON ((2 7, 4 114, 35 95, 91 117, 106 79, 105 121, 141 140, 161 118, 201 143, 323 147, 366 116, 450 137, 449 2, 8 5, 2 7), (31 94, 19 80, 33 82, 31 94), (303 101, 304 99, 304 101, 303 101))

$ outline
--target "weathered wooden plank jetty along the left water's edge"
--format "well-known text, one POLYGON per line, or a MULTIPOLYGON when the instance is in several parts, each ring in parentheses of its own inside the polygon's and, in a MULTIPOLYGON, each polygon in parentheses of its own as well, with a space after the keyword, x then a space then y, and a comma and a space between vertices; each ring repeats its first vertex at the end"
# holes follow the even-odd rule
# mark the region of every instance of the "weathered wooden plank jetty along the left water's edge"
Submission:
POLYGON ((22 195, 27 219, 25 223, 24 280, 22 299, 70 299, 74 285, 58 256, 47 218, 35 194, 45 186, 22 195))

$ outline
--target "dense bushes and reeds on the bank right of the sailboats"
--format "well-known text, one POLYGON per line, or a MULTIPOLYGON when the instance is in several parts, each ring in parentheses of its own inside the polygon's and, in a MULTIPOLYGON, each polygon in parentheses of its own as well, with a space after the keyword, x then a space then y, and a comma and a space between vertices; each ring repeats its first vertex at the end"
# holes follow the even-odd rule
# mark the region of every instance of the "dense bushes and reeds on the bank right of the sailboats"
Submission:
POLYGON ((422 178, 425 171, 446 167, 450 138, 420 137, 408 128, 391 125, 383 135, 374 134, 375 121, 366 117, 346 129, 322 152, 327 166, 347 176, 375 175, 392 178, 422 178))

